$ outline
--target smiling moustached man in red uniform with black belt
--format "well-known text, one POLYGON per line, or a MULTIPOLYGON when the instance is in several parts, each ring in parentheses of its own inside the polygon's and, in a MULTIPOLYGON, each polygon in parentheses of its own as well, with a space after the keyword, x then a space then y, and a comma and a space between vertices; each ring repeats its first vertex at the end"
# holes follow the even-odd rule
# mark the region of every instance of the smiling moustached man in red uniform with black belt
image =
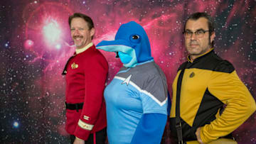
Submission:
POLYGON ((95 28, 89 16, 74 13, 68 23, 76 49, 63 70, 66 75, 65 130, 70 133, 71 143, 102 144, 107 126, 103 99, 107 60, 92 43, 95 28))

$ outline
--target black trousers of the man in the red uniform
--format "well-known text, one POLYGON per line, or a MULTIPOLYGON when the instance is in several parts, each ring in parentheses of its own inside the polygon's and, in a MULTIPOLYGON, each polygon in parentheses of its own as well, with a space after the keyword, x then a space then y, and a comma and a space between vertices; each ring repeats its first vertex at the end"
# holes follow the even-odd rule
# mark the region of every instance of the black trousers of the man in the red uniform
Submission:
MULTIPOLYGON (((94 139, 93 135, 94 133, 91 133, 89 135, 89 138, 85 141, 85 144, 105 144, 105 140, 107 137, 107 128, 103 128, 102 130, 97 131, 95 133, 96 143, 93 143, 93 139, 94 139)), ((75 141, 75 135, 70 135, 70 140, 71 140, 71 144, 73 144, 75 141)))

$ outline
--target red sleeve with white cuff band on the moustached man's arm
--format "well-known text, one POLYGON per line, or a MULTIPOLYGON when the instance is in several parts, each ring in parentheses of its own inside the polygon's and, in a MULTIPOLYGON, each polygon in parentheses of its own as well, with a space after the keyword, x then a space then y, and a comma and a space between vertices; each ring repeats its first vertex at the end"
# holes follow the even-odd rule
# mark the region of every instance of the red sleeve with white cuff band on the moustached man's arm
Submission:
POLYGON ((86 60, 85 101, 74 133, 76 137, 83 140, 89 137, 102 108, 108 72, 107 61, 103 55, 92 55, 86 60))

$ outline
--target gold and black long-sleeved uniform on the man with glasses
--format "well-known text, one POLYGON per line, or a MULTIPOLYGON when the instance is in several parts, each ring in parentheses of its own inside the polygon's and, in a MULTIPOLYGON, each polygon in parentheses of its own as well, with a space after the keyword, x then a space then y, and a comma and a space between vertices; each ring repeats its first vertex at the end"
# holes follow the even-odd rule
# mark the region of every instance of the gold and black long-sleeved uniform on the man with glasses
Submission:
POLYGON ((233 65, 222 60, 211 49, 193 62, 188 57, 188 62, 178 68, 172 86, 170 114, 170 127, 174 138, 177 138, 177 81, 181 69, 185 66, 180 98, 183 140, 197 140, 196 128, 201 126, 203 143, 229 135, 255 111, 255 99, 239 79, 233 65))

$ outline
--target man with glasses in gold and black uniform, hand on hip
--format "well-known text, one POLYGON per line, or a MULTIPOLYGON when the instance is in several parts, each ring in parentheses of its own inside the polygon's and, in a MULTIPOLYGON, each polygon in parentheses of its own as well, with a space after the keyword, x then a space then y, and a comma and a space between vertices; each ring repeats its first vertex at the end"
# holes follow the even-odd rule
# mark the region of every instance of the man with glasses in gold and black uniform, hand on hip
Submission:
POLYGON ((232 138, 231 133, 255 111, 255 99, 233 65, 215 54, 213 18, 193 13, 183 35, 188 60, 178 68, 173 83, 171 133, 178 143, 232 138))

